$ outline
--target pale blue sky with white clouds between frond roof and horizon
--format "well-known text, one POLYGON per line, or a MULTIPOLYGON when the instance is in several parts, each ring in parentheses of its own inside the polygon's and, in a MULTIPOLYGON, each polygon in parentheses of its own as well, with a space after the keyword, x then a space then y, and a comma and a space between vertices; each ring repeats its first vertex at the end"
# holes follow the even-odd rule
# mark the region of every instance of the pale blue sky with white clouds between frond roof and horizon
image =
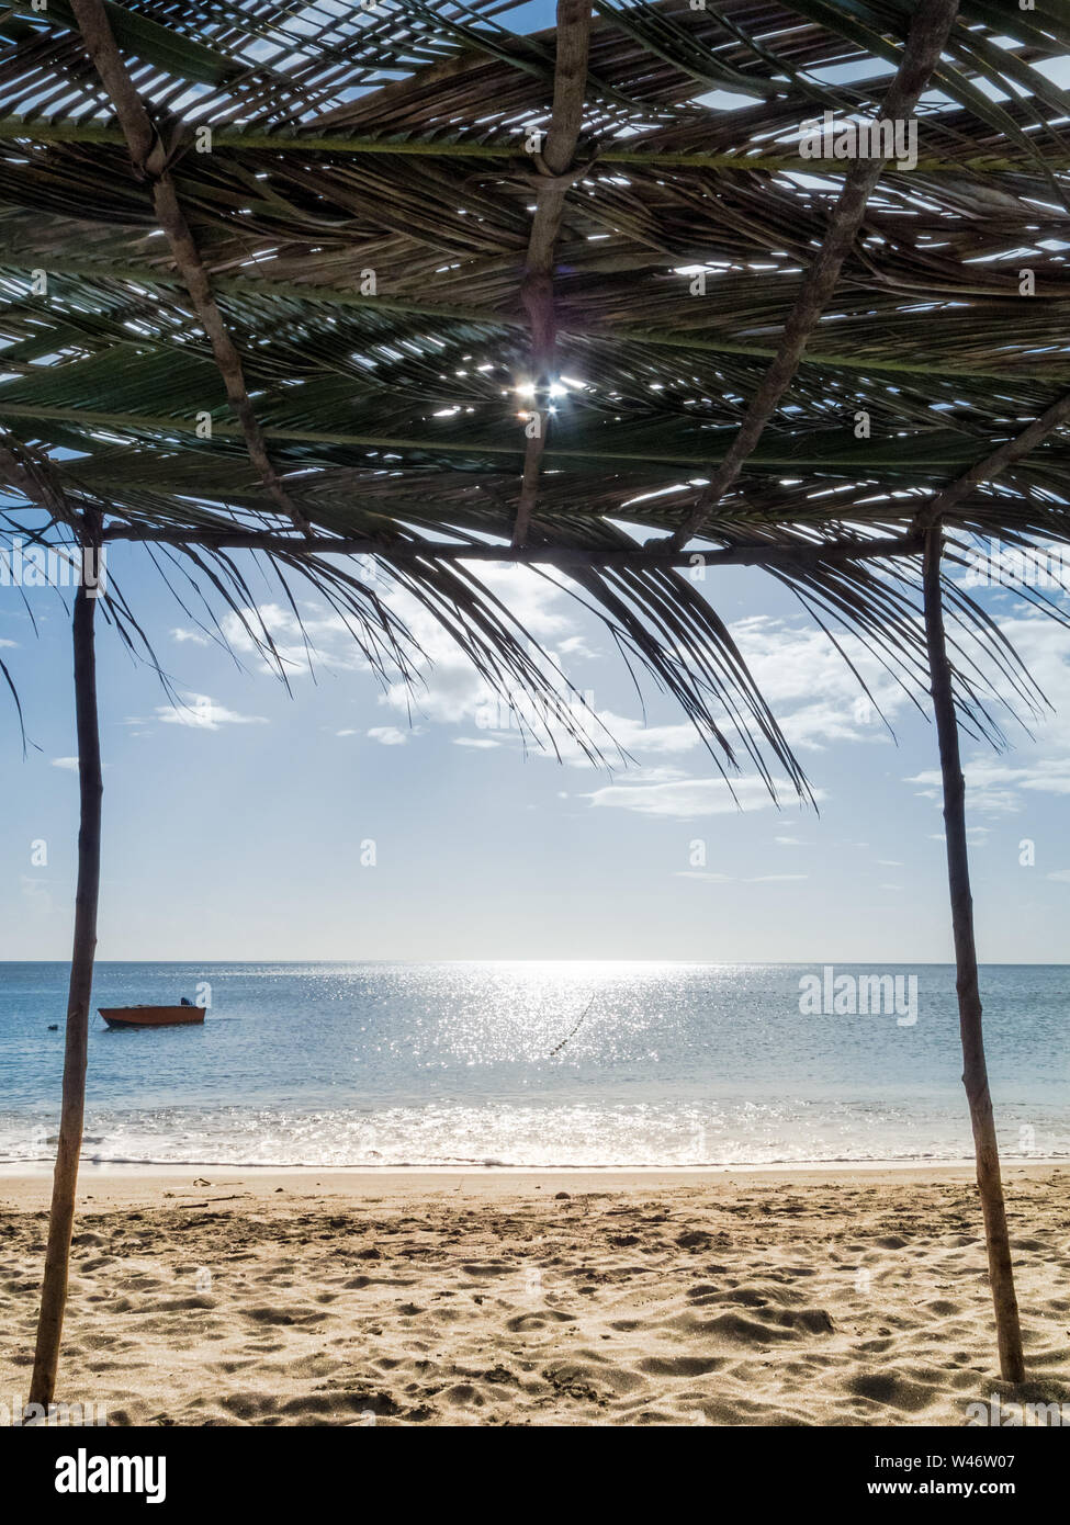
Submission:
MULTIPOLYGON (((743 775, 737 810, 693 732, 652 697, 646 724, 620 659, 565 593, 491 569, 635 758, 612 775, 528 752, 498 729, 475 674, 432 628, 437 660, 409 723, 322 610, 305 610, 316 682, 293 645, 293 697, 240 653, 203 644, 151 573, 118 547, 111 576, 192 706, 101 627, 105 772, 101 958, 949 956, 933 727, 870 665, 898 744, 826 637, 766 575, 720 569, 705 592, 731 622, 800 750, 820 814, 780 810, 743 775), (369 849, 368 843, 374 843, 369 849), (362 863, 374 852, 374 863, 362 863)), ((76 834, 69 631, 55 592, 27 590, 40 633, 0 589, 18 682, 0 750, 0 956, 66 958, 76 834), (40 750, 37 750, 40 747, 40 750), (41 859, 46 843, 47 862, 41 859)), ((983 595, 1053 700, 1070 636, 983 595)), ((403 610, 404 612, 404 610, 403 610)), ((240 645, 240 633, 238 633, 240 645)), ((983 956, 1059 961, 1070 897, 1070 711, 1004 756, 968 744, 983 956), (1035 863, 1020 863, 1020 843, 1035 863)))

